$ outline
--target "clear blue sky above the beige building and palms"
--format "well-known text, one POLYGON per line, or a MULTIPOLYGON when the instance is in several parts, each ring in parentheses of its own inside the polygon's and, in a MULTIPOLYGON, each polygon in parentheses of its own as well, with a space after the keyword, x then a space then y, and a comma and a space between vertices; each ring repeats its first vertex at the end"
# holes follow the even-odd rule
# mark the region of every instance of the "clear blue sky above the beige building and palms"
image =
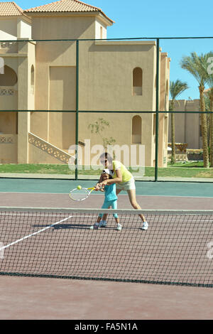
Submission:
MULTIPOLYGON (((53 0, 17 0, 22 9, 28 9, 53 0)), ((107 38, 151 37, 211 37, 213 36, 213 1, 195 0, 86 0, 109 16, 114 25, 108 28, 107 38)), ((190 87, 180 99, 199 98, 195 79, 180 68, 183 55, 213 51, 212 39, 161 40, 160 47, 171 58, 170 80, 180 79, 190 87)))

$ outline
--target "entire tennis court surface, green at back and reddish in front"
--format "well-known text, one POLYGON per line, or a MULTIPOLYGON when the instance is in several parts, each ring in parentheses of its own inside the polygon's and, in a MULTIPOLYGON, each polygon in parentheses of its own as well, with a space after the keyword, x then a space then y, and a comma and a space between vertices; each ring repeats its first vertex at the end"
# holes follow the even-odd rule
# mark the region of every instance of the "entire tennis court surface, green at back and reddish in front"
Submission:
POLYGON ((199 192, 181 184, 181 196, 180 183, 140 183, 137 200, 148 230, 119 195, 117 231, 111 210, 107 227, 90 228, 103 212, 102 195, 76 204, 66 193, 75 182, 59 191, 43 181, 42 192, 32 182, 22 180, 22 189, 13 184, 13 192, 4 189, 9 180, 2 182, 2 319, 212 318, 210 184, 199 192))

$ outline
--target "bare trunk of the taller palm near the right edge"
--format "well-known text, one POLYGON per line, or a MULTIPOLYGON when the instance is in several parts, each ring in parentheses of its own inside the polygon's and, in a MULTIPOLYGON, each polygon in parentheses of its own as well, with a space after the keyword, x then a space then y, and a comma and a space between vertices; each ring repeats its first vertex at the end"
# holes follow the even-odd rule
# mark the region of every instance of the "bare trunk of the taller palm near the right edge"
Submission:
MULTIPOLYGON (((200 90, 200 109, 205 112, 204 102, 204 87, 199 86, 200 90)), ((207 114, 201 114, 201 130, 202 130, 202 151, 203 151, 203 166, 209 168, 209 150, 208 150, 208 136, 207 136, 207 114)))

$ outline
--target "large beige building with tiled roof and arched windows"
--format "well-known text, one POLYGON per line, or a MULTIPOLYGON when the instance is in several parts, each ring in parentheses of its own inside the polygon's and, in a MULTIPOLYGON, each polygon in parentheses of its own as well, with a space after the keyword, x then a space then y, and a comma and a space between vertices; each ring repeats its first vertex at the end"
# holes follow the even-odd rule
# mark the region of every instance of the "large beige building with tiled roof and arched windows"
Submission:
MULTIPOLYGON (((0 163, 67 163, 77 109, 80 142, 102 144, 88 128, 101 117, 109 122, 103 136, 120 146, 143 144, 146 166, 154 166, 155 41, 106 41, 113 23, 101 9, 77 0, 26 11, 0 3, 0 163)), ((170 58, 161 50, 159 65, 165 113, 159 114, 158 160, 166 166, 170 58)))

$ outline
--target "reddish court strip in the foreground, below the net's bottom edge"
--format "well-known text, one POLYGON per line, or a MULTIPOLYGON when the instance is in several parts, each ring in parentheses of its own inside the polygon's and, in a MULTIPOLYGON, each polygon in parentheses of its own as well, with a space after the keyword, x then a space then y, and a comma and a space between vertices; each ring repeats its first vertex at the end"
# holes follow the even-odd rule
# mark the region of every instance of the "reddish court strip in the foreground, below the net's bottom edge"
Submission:
POLYGON ((0 277, 0 319, 212 319, 213 289, 0 277))

